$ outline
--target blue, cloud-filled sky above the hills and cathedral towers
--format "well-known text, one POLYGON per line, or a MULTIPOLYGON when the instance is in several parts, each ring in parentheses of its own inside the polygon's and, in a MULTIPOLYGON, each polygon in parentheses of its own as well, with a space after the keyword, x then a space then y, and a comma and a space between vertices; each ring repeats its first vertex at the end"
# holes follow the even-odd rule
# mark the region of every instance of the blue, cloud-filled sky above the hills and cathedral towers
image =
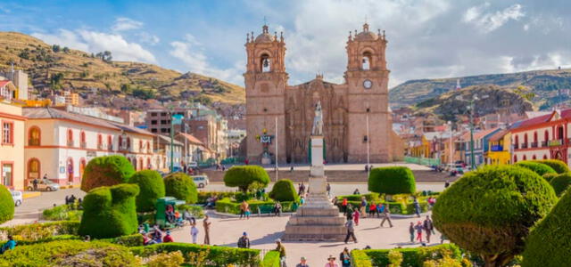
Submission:
POLYGON ((571 68, 569 0, 2 0, 0 31, 244 85, 246 33, 284 32, 289 84, 343 83, 350 30, 384 29, 389 86, 571 68))

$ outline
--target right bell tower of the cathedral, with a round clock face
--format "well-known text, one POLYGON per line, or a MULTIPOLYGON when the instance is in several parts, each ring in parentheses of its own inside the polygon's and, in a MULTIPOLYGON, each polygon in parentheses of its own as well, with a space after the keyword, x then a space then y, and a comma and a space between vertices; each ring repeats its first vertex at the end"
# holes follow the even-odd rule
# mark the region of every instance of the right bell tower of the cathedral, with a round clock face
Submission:
POLYGON ((387 162, 392 159, 392 122, 388 109, 385 31, 370 31, 368 24, 347 40, 349 162, 387 162))

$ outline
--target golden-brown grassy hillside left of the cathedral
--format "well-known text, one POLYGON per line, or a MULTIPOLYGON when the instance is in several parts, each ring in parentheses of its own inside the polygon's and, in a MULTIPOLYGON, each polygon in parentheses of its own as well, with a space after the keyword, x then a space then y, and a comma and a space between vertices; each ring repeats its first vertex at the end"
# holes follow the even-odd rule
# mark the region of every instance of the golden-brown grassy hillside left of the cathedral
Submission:
POLYGON ((72 89, 99 95, 244 103, 244 88, 213 77, 53 46, 21 33, 0 32, 0 69, 28 72, 36 93, 72 89), (208 100, 207 100, 207 99, 208 100))

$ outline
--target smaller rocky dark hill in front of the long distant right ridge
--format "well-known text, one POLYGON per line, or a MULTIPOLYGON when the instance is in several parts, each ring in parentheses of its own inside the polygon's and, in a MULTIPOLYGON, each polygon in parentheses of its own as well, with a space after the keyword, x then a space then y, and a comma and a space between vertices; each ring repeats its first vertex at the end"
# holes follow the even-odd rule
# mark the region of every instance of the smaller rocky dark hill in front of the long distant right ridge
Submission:
POLYGON ((476 117, 487 114, 523 114, 534 109, 530 101, 523 99, 512 89, 498 85, 472 85, 461 90, 443 93, 414 106, 417 114, 435 114, 443 120, 457 121, 468 115, 469 100, 474 101, 476 117))

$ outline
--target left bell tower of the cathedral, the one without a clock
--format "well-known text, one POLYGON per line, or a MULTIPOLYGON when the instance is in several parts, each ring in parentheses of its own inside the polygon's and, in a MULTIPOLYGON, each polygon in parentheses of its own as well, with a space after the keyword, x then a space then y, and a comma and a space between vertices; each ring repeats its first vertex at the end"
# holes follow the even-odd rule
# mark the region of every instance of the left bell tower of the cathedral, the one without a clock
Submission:
POLYGON ((285 162, 285 42, 283 33, 269 33, 267 25, 254 38, 246 35, 246 158, 269 164, 276 153, 285 162), (276 123, 277 121, 277 123, 276 123), (277 127, 276 127, 277 126, 277 127), (276 131, 277 128, 277 131, 276 131), (263 137, 263 138, 262 138, 263 137), (263 141, 263 142, 262 142, 263 141))

